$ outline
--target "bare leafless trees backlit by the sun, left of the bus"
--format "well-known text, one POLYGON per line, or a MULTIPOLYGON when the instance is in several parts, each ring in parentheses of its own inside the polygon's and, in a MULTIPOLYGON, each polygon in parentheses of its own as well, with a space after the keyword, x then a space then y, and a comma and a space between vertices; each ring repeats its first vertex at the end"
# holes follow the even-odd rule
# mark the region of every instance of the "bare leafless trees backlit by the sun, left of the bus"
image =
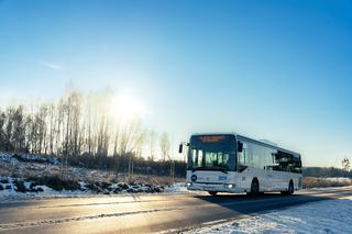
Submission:
POLYGON ((113 91, 67 91, 57 102, 10 105, 0 110, 0 151, 44 154, 70 160, 124 156, 170 160, 167 133, 160 136, 139 116, 122 120, 111 112, 113 91))

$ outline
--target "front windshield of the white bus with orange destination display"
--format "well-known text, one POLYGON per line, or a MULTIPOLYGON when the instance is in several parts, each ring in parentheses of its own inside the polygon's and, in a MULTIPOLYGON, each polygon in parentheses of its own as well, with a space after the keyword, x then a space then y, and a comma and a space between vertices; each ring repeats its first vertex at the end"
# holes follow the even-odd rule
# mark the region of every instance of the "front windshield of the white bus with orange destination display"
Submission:
POLYGON ((233 135, 197 135, 190 138, 189 170, 234 170, 233 135))

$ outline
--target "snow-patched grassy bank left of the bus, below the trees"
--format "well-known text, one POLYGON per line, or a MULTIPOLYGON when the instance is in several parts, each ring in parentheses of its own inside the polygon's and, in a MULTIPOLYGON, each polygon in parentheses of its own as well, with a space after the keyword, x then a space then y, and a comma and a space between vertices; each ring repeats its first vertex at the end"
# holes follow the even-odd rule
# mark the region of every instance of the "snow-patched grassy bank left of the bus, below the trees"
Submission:
POLYGON ((185 183, 160 185, 147 176, 127 182, 127 175, 63 166, 56 158, 0 152, 0 201, 63 197, 114 196, 129 193, 186 192, 185 183))

